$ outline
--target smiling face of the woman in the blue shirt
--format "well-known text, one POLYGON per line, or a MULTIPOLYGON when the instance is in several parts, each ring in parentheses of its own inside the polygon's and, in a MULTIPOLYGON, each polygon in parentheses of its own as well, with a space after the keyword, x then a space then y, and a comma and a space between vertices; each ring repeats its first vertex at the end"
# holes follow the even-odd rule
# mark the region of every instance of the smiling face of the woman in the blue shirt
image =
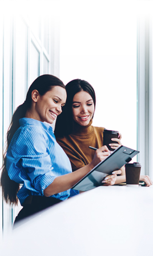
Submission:
POLYGON ((41 122, 53 123, 62 112, 62 106, 66 102, 66 90, 61 86, 55 86, 45 95, 38 94, 35 104, 36 119, 41 122))

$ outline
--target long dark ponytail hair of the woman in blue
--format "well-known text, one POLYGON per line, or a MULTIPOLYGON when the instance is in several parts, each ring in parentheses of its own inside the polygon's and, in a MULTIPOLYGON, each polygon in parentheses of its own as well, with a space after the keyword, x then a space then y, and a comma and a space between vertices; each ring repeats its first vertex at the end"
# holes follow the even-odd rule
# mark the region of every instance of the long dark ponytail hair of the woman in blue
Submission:
POLYGON ((26 111, 31 107, 31 92, 33 90, 37 90, 39 94, 42 96, 46 94, 47 91, 50 91, 54 86, 61 86, 65 88, 63 82, 58 79, 58 77, 53 75, 42 75, 37 77, 34 82, 29 87, 27 92, 26 100, 23 104, 17 107, 15 110, 13 117, 11 119, 11 123, 9 129, 7 131, 7 139, 6 139, 6 151, 3 154, 3 165, 2 165, 2 174, 1 174, 1 187, 2 194, 6 201, 6 203, 13 203, 15 205, 18 204, 17 193, 19 191, 19 184, 15 181, 11 180, 6 169, 6 153, 9 148, 11 139, 15 131, 19 128, 19 119, 25 117, 26 111))

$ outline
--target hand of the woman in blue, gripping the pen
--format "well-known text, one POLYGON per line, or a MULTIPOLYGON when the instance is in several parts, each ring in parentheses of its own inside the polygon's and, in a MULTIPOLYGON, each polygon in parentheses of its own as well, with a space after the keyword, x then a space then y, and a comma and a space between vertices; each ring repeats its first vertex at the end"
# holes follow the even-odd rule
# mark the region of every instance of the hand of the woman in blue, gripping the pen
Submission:
POLYGON ((99 162, 103 161, 108 156, 110 156, 110 152, 107 146, 102 146, 101 148, 96 150, 91 164, 95 167, 99 164, 99 162))

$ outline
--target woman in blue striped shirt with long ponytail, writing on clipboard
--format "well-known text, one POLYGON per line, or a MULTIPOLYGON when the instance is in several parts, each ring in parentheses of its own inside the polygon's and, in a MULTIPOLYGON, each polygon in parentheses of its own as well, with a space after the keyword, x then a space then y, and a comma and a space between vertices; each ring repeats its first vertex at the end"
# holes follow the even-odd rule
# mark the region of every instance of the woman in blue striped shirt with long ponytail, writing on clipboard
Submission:
MULTIPOLYGON (((109 154, 103 146, 96 150, 90 164, 72 172, 69 158, 50 126, 65 102, 62 81, 42 75, 31 84, 25 102, 13 114, 7 131, 1 186, 6 203, 17 204, 19 199, 23 205, 15 222, 66 200, 71 187, 109 154)), ((120 170, 112 174, 112 183, 119 173, 120 170)))

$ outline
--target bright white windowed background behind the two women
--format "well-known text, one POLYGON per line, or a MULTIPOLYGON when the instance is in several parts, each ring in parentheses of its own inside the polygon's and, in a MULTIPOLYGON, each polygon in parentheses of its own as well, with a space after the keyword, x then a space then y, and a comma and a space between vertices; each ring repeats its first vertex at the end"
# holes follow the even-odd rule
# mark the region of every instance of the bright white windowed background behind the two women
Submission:
MULTIPOLYGON (((44 73, 67 84, 84 79, 96 92, 93 125, 122 134, 140 150, 142 174, 151 176, 152 1, 1 1, 0 164, 13 112, 44 73)), ((54 126, 54 125, 53 125, 54 126)), ((0 195, 0 237, 21 207, 0 195)))

